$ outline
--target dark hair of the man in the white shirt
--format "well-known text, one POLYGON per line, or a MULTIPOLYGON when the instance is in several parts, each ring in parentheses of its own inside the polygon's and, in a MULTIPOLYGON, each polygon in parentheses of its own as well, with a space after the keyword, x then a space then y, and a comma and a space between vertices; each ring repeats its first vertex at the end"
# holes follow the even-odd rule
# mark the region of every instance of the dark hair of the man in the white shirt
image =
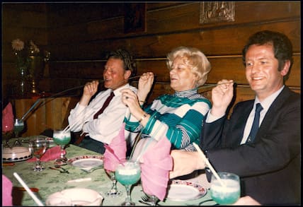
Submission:
POLYGON ((131 77, 136 75, 137 68, 135 61, 132 59, 132 55, 130 54, 130 52, 127 52, 127 50, 117 49, 115 51, 112 51, 106 57, 106 59, 110 58, 121 59, 123 61, 124 69, 126 71, 130 70, 132 72, 131 77))

